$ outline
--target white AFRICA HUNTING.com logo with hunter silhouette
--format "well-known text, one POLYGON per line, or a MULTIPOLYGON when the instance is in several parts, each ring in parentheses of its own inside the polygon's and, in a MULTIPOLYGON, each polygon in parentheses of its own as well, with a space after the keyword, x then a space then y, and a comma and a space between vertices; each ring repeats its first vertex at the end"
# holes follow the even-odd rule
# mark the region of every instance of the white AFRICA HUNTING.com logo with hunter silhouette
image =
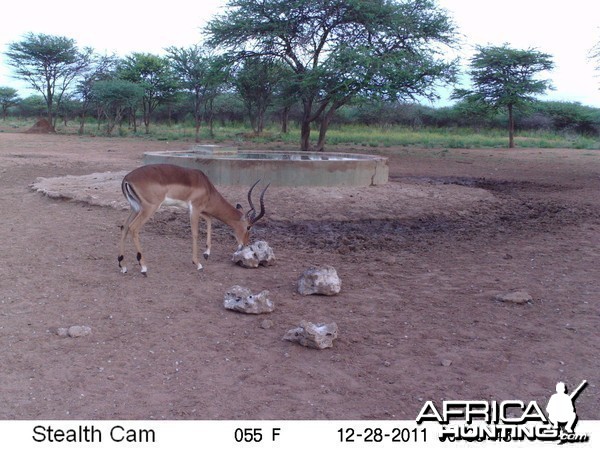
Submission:
POLYGON ((546 405, 546 414, 535 401, 503 402, 487 400, 445 400, 438 409, 427 401, 417 416, 417 424, 442 425, 440 441, 559 441, 587 442, 589 435, 577 434, 575 400, 587 381, 570 394, 564 383, 556 384, 556 393, 546 405))

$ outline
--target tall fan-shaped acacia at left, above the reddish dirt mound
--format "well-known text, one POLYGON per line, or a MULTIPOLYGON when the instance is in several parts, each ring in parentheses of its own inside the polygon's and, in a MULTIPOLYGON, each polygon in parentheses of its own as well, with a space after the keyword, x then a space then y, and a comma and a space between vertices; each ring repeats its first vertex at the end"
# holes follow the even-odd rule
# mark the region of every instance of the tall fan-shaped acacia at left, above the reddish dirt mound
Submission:
POLYGON ((54 127, 54 113, 70 84, 89 66, 93 50, 79 50, 75 40, 62 36, 27 33, 20 42, 8 44, 5 53, 17 78, 25 80, 46 101, 48 122, 54 127))

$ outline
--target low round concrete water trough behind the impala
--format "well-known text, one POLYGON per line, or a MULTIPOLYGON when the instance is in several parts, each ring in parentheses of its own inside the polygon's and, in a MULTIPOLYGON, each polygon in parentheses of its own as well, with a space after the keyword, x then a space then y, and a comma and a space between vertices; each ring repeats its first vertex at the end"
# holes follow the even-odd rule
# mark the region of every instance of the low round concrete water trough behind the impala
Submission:
POLYGON ((387 158, 354 153, 238 150, 202 145, 189 151, 149 152, 144 164, 202 170, 214 184, 247 186, 373 186, 388 181, 387 158))

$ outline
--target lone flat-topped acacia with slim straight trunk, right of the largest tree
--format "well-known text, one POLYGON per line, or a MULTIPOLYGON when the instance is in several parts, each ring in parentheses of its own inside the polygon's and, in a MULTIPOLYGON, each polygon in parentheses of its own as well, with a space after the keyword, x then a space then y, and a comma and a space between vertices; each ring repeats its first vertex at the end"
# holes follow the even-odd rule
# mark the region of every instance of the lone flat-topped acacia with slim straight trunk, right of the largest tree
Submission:
POLYGON ((508 44, 500 47, 478 46, 470 65, 473 89, 456 89, 453 98, 464 98, 493 109, 506 108, 508 147, 514 148, 514 110, 551 88, 549 80, 540 80, 536 76, 554 68, 552 57, 535 49, 513 49, 508 44))

